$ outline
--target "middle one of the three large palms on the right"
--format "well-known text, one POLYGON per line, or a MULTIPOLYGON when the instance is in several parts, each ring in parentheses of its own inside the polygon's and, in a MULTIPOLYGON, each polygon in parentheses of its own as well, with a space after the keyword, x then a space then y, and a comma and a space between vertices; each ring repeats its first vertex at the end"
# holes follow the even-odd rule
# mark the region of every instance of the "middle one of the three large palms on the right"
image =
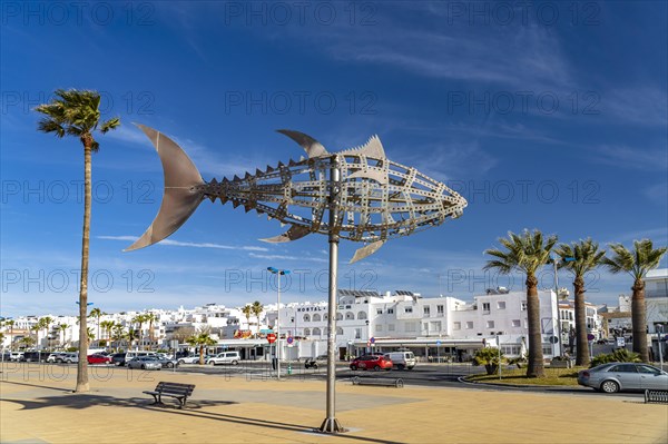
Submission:
POLYGON ((587 312, 584 309, 584 275, 599 265, 606 256, 606 250, 599 250, 597 243, 587 238, 572 245, 561 244, 556 253, 563 258, 562 267, 573 275, 576 293, 576 365, 589 365, 589 346, 587 339, 587 312))

